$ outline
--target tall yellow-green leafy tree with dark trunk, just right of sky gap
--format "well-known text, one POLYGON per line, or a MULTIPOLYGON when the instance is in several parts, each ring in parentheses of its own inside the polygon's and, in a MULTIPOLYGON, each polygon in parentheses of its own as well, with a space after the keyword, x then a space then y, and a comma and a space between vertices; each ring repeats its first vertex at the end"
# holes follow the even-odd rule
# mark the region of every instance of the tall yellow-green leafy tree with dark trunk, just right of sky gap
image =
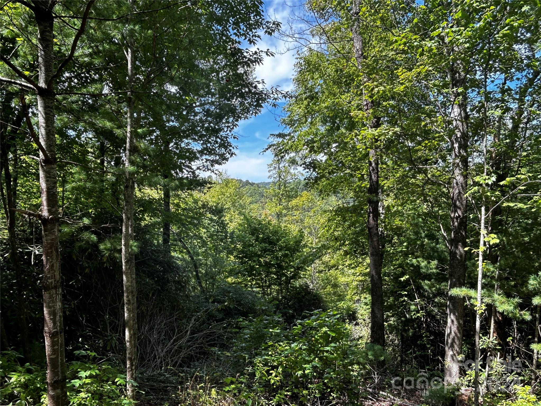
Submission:
POLYGON ((391 134, 397 132, 394 117, 385 113, 394 107, 390 102, 394 95, 399 96, 391 88, 393 74, 380 69, 382 63, 396 60, 395 54, 382 51, 393 46, 392 31, 378 22, 391 24, 392 12, 404 15, 406 21, 404 9, 400 5, 395 9, 391 2, 354 2, 351 7, 311 3, 312 35, 318 41, 309 43, 299 58, 296 97, 286 106, 289 116, 283 120, 291 134, 276 135, 282 148, 299 153, 308 178, 319 182, 321 191, 347 191, 356 210, 360 199, 366 198, 370 341, 381 346, 385 344, 381 276, 385 239, 380 168, 385 162, 381 155, 391 150, 391 134), (351 37, 351 42, 343 41, 344 37, 351 37), (312 104, 313 100, 319 104, 312 104))

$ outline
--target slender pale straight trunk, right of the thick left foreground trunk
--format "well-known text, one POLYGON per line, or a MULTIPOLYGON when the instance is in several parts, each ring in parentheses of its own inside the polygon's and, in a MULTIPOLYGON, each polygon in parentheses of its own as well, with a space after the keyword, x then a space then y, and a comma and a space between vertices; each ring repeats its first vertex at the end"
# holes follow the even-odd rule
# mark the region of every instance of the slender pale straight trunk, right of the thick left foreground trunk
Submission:
MULTIPOLYGON (((134 2, 129 0, 133 9, 134 2)), ((128 112, 126 136, 126 173, 124 175, 124 205, 122 210, 122 277, 124 283, 124 329, 126 335, 126 377, 128 397, 134 399, 135 368, 137 362, 137 292, 135 285, 135 253, 130 249, 134 240, 135 179, 132 158, 135 150, 134 129, 134 41, 128 32, 128 112)))

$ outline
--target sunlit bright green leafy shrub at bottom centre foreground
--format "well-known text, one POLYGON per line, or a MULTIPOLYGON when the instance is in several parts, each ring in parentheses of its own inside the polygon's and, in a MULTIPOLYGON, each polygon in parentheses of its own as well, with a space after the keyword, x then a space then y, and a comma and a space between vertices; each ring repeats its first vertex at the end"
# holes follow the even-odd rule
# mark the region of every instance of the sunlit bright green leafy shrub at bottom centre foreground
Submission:
POLYGON ((228 392, 261 395, 271 404, 353 400, 370 351, 333 312, 313 312, 291 329, 260 317, 243 323, 233 354, 245 356, 243 375, 226 378, 228 392))

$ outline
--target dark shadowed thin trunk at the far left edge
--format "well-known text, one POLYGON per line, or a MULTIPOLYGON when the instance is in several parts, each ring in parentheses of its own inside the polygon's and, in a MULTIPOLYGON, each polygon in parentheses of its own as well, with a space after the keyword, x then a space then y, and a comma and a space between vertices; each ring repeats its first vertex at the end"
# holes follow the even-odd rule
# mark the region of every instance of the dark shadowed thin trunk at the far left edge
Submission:
MULTIPOLYGON (((7 119, 5 119, 7 120, 7 119)), ((0 193, 2 194, 2 202, 4 205, 4 214, 6 220, 8 220, 8 240, 10 248, 10 260, 13 267, 16 279, 17 289, 17 322, 19 336, 21 337, 21 350, 24 359, 30 361, 28 358, 28 324, 27 324, 27 302, 24 299, 24 284, 23 284, 23 272, 21 269, 21 262, 19 260, 19 252, 17 248, 17 239, 15 235, 15 211, 17 208, 17 148, 15 137, 21 128, 23 121, 23 114, 21 110, 17 112, 13 124, 11 126, 6 125, 3 120, 0 122, 0 171, 4 172, 4 187, 0 184, 0 193), (8 145, 9 144, 9 145, 8 145), (9 153, 11 149, 13 156, 13 176, 11 176, 11 168, 9 165, 9 153)))

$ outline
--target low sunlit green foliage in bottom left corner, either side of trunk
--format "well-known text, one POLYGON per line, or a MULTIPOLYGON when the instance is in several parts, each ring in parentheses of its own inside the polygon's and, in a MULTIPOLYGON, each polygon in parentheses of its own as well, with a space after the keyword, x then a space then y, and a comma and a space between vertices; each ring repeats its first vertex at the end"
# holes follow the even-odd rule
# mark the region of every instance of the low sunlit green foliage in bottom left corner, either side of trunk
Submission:
MULTIPOLYGON (((88 357, 89 362, 74 361, 68 365, 68 401, 74 406, 129 406, 135 402, 124 396, 126 375, 105 362, 95 362, 96 354, 75 351, 76 355, 88 357), (94 361, 94 362, 93 362, 94 361)), ((47 404, 45 370, 39 366, 19 365, 21 357, 14 351, 2 351, 2 384, 0 396, 3 401, 15 405, 47 404)), ((135 385, 136 383, 133 382, 135 385)))

